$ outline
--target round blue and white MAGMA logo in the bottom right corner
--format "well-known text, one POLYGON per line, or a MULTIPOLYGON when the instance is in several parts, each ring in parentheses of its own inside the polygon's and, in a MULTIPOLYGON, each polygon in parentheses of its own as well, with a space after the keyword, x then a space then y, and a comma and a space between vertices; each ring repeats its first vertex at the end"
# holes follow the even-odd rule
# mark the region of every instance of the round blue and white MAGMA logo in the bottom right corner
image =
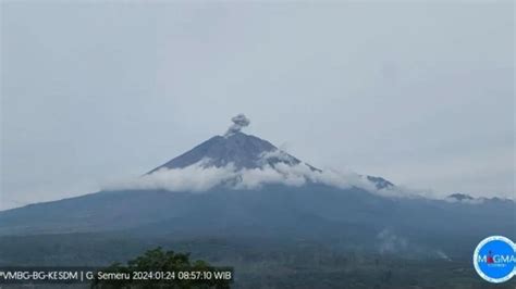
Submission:
POLYGON ((516 244, 503 236, 483 239, 475 249, 478 275, 490 282, 504 282, 516 274, 516 244))

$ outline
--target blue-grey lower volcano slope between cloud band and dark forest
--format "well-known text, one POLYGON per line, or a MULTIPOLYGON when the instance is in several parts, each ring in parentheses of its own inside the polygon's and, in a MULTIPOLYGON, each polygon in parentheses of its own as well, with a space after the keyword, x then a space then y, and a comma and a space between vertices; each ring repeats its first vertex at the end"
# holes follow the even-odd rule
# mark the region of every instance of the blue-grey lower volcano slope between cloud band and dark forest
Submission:
POLYGON ((111 191, 0 212, 0 237, 126 231, 149 239, 306 239, 367 250, 385 241, 401 252, 458 252, 486 236, 516 237, 514 212, 512 201, 392 199, 323 185, 111 191))

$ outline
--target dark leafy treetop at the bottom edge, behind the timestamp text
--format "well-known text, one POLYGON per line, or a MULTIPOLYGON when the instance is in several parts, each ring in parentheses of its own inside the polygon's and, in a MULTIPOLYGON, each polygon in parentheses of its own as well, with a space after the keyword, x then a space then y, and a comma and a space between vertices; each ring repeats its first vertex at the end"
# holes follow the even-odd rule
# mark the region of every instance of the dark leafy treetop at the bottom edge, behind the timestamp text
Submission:
POLYGON ((128 261, 126 265, 114 263, 97 272, 91 288, 225 289, 230 288, 231 280, 213 273, 226 271, 216 268, 201 260, 191 262, 189 253, 175 253, 157 248, 128 261), (107 279, 105 276, 116 277, 107 279))

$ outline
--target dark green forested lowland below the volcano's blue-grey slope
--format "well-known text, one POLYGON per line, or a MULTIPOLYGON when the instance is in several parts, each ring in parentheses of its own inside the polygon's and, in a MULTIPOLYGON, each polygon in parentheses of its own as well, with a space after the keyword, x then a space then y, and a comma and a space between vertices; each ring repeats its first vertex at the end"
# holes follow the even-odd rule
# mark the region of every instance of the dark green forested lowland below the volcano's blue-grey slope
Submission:
MULTIPOLYGON (((126 265, 111 267, 114 271, 188 267, 188 264, 196 265, 189 260, 201 259, 209 265, 199 265, 233 267, 231 288, 516 288, 516 278, 500 285, 482 280, 472 267, 471 252, 446 251, 451 260, 444 260, 439 256, 407 256, 398 252, 381 254, 359 247, 341 250, 328 242, 295 239, 174 239, 170 236, 137 239, 126 235, 70 234, 2 237, 0 252, 0 265, 4 266, 106 266, 115 261, 133 260, 126 265), (159 246, 164 250, 151 250, 134 259, 148 248, 159 246), (171 249, 192 252, 192 255, 165 251, 171 249)), ((97 288, 109 286, 103 284, 97 288)), ((152 284, 148 288, 158 286, 152 284)), ((164 282, 161 286, 209 288, 209 285, 196 282, 184 282, 185 287, 164 282)))

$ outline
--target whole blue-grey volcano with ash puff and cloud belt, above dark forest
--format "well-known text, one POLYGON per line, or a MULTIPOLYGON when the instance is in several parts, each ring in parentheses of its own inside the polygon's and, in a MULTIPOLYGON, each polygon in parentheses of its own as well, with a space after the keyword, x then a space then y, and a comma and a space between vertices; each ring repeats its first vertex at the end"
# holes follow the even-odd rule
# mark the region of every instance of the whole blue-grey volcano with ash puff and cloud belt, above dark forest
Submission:
POLYGON ((217 236, 383 250, 389 231, 397 252, 450 255, 468 253, 486 236, 516 235, 511 200, 429 199, 382 177, 320 169, 242 133, 249 123, 233 117, 224 135, 128 186, 0 212, 0 236, 217 236), (198 189, 199 183, 206 186, 198 189))

